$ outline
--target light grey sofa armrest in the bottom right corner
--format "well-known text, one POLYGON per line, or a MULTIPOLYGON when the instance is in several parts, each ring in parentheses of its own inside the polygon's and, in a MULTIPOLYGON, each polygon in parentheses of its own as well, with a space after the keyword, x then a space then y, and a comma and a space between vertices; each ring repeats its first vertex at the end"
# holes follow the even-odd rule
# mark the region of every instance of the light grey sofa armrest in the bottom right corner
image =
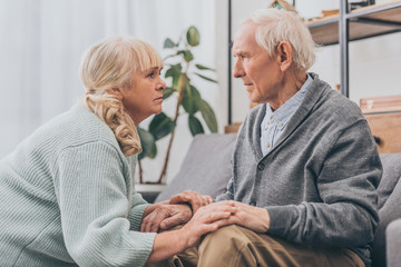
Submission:
POLYGON ((401 218, 391 221, 385 230, 387 266, 400 266, 401 263, 401 218))

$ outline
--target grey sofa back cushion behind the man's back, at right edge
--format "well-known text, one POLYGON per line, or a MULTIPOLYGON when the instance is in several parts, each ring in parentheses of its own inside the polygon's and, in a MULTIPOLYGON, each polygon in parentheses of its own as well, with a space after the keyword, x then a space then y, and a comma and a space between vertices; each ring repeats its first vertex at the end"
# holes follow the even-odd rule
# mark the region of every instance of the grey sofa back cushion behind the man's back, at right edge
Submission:
POLYGON ((379 226, 373 240, 372 264, 385 266, 385 228, 401 218, 401 154, 380 155, 383 176, 378 187, 379 226))

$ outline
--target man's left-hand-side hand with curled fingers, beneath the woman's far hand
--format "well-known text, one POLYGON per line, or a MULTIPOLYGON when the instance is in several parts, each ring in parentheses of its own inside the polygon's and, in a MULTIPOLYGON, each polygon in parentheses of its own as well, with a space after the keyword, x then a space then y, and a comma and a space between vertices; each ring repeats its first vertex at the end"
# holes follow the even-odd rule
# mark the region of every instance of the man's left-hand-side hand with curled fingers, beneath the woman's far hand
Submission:
POLYGON ((187 222, 192 217, 190 208, 186 205, 157 205, 145 216, 140 224, 140 231, 157 233, 176 225, 187 222))

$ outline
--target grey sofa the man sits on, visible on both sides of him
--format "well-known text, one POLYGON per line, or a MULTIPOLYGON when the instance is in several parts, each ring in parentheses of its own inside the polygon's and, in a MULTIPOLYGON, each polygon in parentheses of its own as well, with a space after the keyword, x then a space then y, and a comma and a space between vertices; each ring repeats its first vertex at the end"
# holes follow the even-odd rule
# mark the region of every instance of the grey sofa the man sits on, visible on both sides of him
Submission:
MULTIPOLYGON (((231 156, 236 135, 198 135, 194 138, 180 170, 156 201, 187 189, 216 197, 231 178, 231 156)), ((373 267, 401 266, 401 154, 381 155, 380 224, 372 244, 373 267)))

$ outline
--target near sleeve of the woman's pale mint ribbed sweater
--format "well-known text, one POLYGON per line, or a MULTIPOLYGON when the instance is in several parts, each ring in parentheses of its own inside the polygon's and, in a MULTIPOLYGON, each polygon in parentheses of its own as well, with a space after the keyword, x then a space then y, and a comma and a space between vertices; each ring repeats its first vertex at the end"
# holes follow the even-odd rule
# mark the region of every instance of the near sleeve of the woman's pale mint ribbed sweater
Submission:
POLYGON ((69 147, 57 158, 62 234, 79 266, 143 266, 150 255, 156 234, 129 230, 124 168, 117 149, 104 141, 69 147))

